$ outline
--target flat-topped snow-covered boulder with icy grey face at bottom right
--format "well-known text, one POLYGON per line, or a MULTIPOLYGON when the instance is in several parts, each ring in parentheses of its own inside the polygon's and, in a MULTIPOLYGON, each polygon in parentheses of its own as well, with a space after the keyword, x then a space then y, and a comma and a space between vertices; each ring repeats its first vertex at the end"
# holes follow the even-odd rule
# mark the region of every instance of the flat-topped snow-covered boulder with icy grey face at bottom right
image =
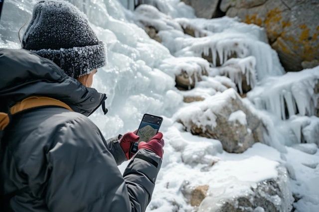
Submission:
POLYGON ((204 187, 189 180, 181 186, 189 203, 194 193, 198 197, 196 205, 206 196, 198 212, 253 212, 256 209, 290 212, 292 209, 293 197, 287 170, 278 162, 259 156, 239 161, 219 161, 207 174, 211 175, 210 181, 206 181, 204 187), (227 178, 220 178, 221 174, 226 174, 227 178))

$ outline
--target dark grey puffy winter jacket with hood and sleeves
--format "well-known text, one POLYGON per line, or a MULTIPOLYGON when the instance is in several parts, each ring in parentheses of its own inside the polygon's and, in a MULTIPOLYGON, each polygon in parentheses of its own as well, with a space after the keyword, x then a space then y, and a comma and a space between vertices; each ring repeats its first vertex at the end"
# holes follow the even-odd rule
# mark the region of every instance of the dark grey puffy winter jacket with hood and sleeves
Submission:
MULTIPOLYGON (((11 117, 0 146, 0 194, 16 212, 140 212, 151 201, 161 159, 140 150, 126 160, 118 136, 105 140, 87 117, 105 95, 26 50, 0 49, 0 111, 29 97, 57 99, 73 110, 33 108, 11 117)), ((0 210, 1 211, 1 210, 0 210)))

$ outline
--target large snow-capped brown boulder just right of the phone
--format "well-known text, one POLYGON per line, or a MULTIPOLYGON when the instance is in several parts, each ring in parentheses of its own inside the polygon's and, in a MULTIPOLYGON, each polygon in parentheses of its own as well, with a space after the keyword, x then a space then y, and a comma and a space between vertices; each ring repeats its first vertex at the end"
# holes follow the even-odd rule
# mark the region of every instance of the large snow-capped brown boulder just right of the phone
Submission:
POLYGON ((263 123, 234 89, 181 108, 176 120, 192 134, 220 140, 227 152, 240 153, 255 142, 264 141, 263 123))

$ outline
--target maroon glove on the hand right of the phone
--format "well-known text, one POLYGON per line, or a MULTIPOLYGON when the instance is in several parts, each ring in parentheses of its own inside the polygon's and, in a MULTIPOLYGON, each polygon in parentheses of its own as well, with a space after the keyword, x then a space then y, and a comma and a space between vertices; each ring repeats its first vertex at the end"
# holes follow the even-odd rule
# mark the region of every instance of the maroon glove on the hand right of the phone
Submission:
POLYGON ((163 134, 161 132, 157 133, 149 142, 141 141, 139 143, 139 149, 148 149, 163 158, 163 146, 164 140, 162 139, 163 134))

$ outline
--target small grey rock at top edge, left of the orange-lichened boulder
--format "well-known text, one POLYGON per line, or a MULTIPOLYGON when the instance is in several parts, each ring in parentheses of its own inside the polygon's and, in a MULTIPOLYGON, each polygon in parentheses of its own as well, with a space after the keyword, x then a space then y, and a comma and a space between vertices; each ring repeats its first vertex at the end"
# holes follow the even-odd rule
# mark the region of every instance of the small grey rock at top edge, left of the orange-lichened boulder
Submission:
POLYGON ((181 0, 184 3, 192 6, 197 17, 213 18, 220 17, 218 8, 219 0, 181 0))

